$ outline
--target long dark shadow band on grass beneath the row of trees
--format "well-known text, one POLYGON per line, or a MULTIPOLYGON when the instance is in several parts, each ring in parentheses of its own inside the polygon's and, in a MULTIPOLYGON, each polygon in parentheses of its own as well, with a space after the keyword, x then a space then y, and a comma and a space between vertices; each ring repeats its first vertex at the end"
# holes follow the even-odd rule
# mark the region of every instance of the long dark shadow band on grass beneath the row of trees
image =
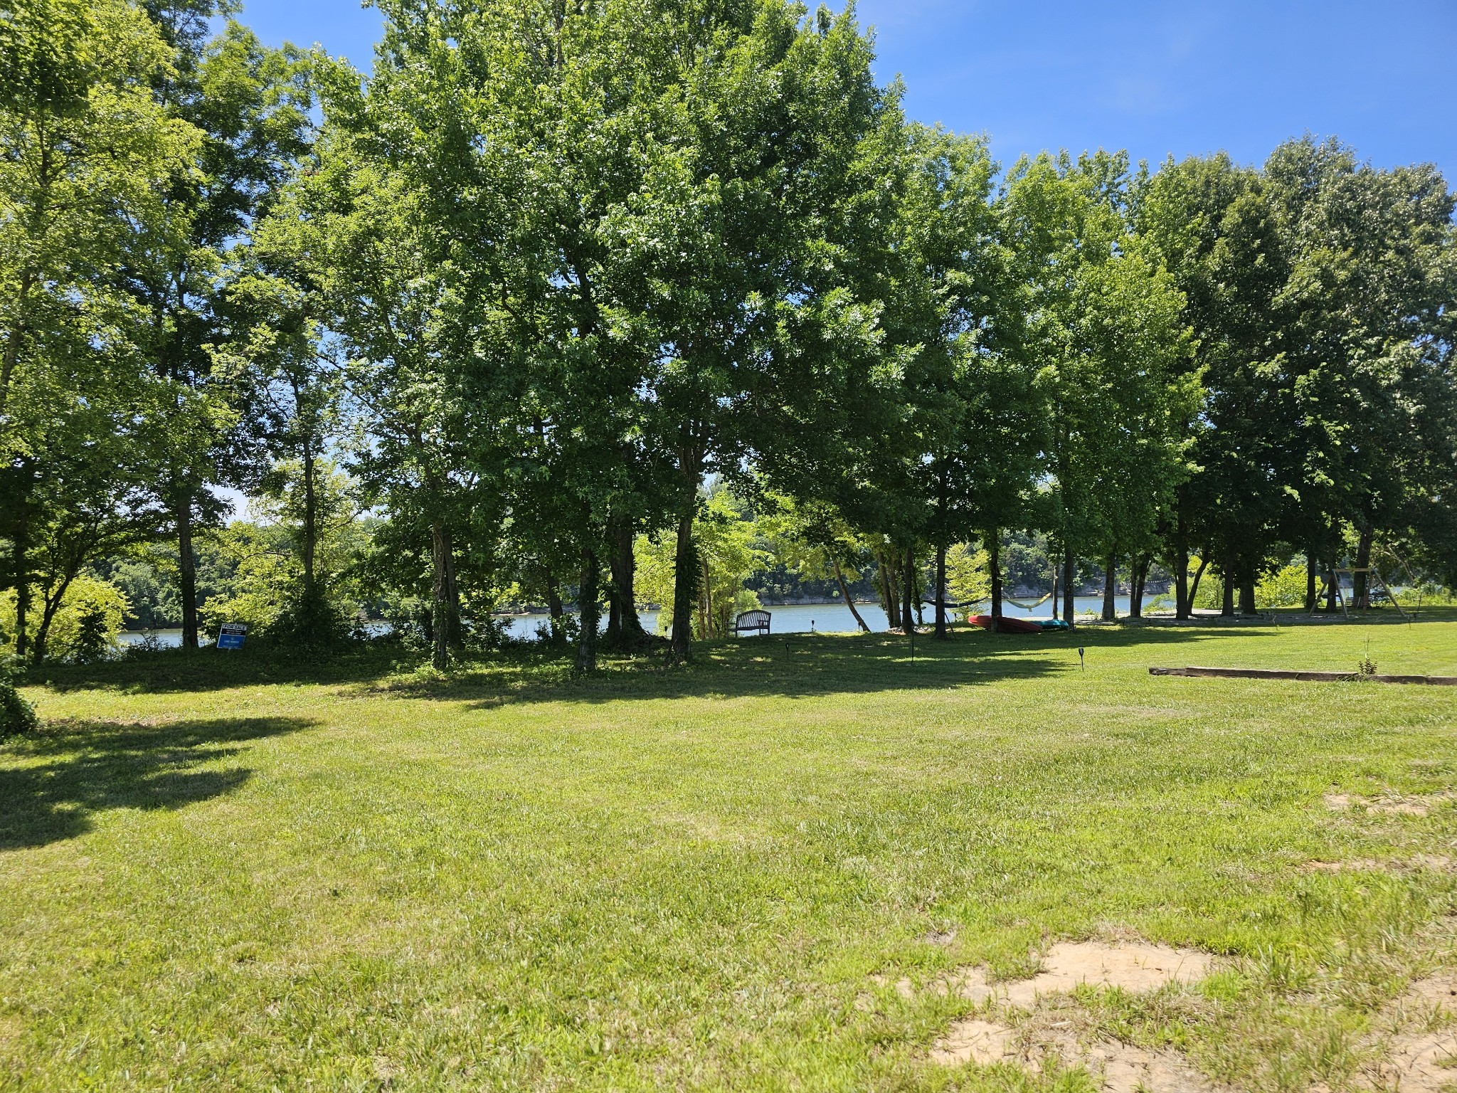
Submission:
MULTIPOLYGON (((1423 612, 1421 621, 1444 622, 1454 616, 1457 612, 1423 612)), ((1142 625, 1091 625, 1046 634, 985 634, 957 627, 953 640, 944 643, 919 634, 914 662, 909 638, 902 634, 772 634, 702 644, 696 663, 688 667, 667 666, 657 651, 603 656, 603 670, 589 679, 573 675, 570 650, 561 647, 516 646, 462 665, 444 678, 420 678, 415 673, 424 666, 424 656, 388 641, 361 643, 332 653, 258 644, 242 650, 162 650, 101 665, 47 665, 32 669, 29 682, 52 691, 109 688, 143 694, 313 683, 398 697, 481 698, 494 704, 712 694, 796 697, 828 691, 898 691, 928 682, 954 686, 998 675, 1058 672, 1067 666, 1069 650, 1074 650, 1075 663, 1078 646, 1088 650, 1196 646, 1249 635, 1271 625, 1265 619, 1199 619, 1192 624, 1150 619, 1142 625), (922 678, 927 673, 941 673, 944 679, 922 678)))

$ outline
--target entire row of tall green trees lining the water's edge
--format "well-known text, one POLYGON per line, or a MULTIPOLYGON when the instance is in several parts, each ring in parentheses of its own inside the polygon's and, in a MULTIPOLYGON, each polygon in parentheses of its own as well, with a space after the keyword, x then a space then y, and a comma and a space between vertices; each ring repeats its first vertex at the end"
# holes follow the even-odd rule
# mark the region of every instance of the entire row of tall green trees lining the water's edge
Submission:
POLYGON ((1233 612, 1348 539, 1453 580, 1435 168, 1305 137, 1002 172, 905 118, 852 10, 379 6, 369 76, 219 0, 0 9, 17 653, 159 544, 195 646, 220 487, 272 516, 232 546, 280 634, 334 640, 348 570, 427 605, 440 666, 507 587, 562 637, 576 600, 581 667, 641 644, 640 560, 688 657, 737 596, 711 560, 753 561, 733 504, 938 635, 972 558, 1000 609, 1008 530, 1048 536, 1069 619, 1087 560, 1135 593, 1163 564, 1180 614, 1190 570, 1233 612))

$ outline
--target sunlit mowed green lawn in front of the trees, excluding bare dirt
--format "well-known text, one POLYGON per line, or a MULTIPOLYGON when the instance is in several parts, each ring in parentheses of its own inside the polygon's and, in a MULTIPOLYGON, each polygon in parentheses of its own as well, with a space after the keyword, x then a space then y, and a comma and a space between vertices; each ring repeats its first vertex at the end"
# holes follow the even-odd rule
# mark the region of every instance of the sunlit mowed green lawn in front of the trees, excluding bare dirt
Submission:
POLYGON ((1457 787, 1457 688, 1148 666, 1457 675, 1429 618, 57 672, 0 745, 0 1087, 1091 1089, 931 1064, 970 1003, 886 984, 1129 934, 1228 959, 1104 1035, 1352 1087, 1451 957, 1457 877, 1400 866, 1457 807, 1323 794, 1457 787))

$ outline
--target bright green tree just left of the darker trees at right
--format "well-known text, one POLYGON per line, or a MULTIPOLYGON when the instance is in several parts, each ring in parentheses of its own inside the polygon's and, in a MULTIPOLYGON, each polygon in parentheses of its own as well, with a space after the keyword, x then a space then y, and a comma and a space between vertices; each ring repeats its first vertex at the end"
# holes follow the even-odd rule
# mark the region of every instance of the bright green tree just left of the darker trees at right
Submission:
POLYGON ((1106 563, 1112 616, 1118 558, 1152 546, 1187 474, 1201 396, 1182 297, 1128 229, 1126 163, 1122 153, 1024 160, 1002 213, 1023 286, 1021 338, 1043 361, 1046 522, 1062 548, 1069 621, 1083 554, 1106 563))

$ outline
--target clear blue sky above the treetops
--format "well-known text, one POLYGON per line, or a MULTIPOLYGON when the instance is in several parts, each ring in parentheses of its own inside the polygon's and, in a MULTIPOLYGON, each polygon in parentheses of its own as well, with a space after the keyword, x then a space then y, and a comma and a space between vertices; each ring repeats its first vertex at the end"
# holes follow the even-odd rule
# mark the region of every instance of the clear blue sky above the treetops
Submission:
MULTIPOLYGON (((370 63, 380 16, 357 0, 245 3, 270 44, 370 63)), ((858 13, 911 117, 986 133, 1004 165, 1059 147, 1257 163, 1310 130, 1378 166, 1434 162, 1457 185, 1457 0, 863 0, 858 13)))

